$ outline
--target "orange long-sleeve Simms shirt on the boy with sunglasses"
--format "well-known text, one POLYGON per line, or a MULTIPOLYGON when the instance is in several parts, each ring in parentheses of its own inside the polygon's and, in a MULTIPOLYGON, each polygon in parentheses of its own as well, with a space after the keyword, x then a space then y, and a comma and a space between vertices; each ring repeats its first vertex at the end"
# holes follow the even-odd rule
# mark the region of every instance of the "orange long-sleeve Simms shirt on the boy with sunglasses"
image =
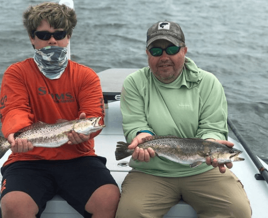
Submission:
MULTIPOLYGON (((103 96, 97 74, 70 60, 62 76, 56 80, 46 78, 33 58, 11 65, 3 76, 0 99, 5 137, 37 121, 73 120, 82 112, 86 117, 102 117, 100 124, 104 122, 103 96)), ((78 145, 35 147, 25 153, 12 153, 4 165, 20 160, 67 160, 96 155, 93 138, 99 132, 78 145)))

